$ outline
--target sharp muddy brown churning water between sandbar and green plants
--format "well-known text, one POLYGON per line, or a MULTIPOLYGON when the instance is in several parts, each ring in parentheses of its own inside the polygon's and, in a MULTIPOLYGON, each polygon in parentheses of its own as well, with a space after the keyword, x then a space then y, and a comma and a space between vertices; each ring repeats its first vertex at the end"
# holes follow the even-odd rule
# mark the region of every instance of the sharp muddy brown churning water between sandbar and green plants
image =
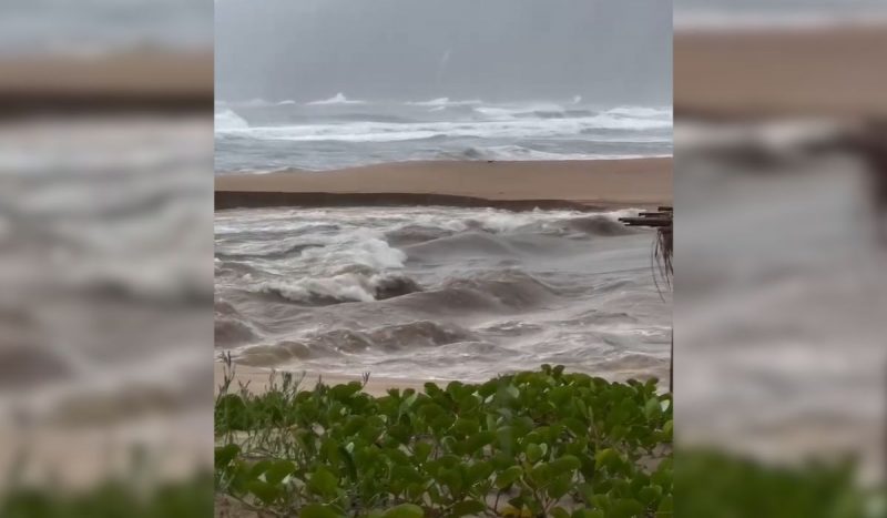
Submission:
MULTIPOLYGON (((667 373, 653 235, 625 212, 216 214, 216 347, 239 363, 480 379, 542 363, 667 373)), ((667 295, 664 295, 667 296, 667 295)))

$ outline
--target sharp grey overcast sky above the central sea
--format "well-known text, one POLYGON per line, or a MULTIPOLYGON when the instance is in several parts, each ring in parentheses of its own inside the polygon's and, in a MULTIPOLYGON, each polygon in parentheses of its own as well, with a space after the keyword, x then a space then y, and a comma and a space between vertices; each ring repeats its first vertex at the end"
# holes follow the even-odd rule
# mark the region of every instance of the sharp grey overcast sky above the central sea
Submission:
POLYGON ((217 0, 216 97, 670 104, 670 0, 217 0))

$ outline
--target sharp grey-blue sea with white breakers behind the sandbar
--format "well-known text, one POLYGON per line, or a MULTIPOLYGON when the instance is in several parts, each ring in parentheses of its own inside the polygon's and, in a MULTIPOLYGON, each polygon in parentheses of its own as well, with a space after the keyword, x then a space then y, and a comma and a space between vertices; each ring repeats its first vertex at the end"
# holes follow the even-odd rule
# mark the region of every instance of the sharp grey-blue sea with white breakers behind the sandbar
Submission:
POLYGON ((217 102, 216 172, 323 171, 405 160, 582 160, 671 154, 670 108, 478 99, 217 102))

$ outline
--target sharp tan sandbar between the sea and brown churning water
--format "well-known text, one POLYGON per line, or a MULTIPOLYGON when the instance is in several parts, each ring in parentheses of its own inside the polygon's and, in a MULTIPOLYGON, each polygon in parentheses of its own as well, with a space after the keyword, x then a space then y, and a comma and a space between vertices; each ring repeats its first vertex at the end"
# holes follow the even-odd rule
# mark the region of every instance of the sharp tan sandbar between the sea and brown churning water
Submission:
POLYGON ((671 204, 672 160, 400 162, 339 171, 217 176, 216 209, 459 205, 502 209, 671 204))

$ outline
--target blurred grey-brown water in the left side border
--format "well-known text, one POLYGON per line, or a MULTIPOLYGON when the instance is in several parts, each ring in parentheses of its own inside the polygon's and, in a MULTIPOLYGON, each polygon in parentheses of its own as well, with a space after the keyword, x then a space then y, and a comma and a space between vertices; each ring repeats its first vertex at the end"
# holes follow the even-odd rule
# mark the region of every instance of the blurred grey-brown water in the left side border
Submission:
POLYGON ((0 135, 0 416, 23 403, 126 414, 144 393, 205 405, 206 121, 40 120, 0 135))

